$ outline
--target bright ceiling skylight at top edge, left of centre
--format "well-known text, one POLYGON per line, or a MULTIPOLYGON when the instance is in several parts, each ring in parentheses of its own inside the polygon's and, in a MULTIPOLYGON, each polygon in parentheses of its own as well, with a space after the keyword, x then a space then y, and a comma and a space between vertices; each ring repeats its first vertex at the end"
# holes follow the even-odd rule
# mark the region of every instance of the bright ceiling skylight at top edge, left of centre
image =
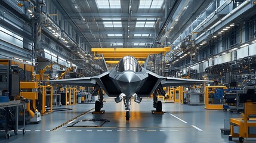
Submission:
POLYGON ((121 8, 120 0, 95 0, 98 8, 121 8))

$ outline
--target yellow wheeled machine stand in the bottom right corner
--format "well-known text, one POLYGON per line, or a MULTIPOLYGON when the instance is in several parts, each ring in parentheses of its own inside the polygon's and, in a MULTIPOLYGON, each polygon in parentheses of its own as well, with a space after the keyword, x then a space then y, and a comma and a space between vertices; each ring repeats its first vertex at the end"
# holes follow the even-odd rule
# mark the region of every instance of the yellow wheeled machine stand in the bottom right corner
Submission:
POLYGON ((256 138, 255 115, 256 115, 256 102, 245 102, 244 113, 241 114, 242 118, 230 119, 229 141, 232 141, 232 138, 239 138, 240 142, 243 142, 244 138, 256 138), (254 118, 251 116, 254 116, 254 118), (239 128, 239 131, 236 133, 235 133, 235 128, 239 128))

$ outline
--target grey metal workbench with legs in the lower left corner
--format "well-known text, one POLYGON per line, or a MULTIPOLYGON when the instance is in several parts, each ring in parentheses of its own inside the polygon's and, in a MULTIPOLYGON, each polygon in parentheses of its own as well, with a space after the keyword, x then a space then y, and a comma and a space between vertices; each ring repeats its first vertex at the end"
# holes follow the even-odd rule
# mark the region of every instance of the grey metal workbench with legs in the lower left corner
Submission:
MULTIPOLYGON (((23 134, 25 133, 25 102, 20 102, 19 100, 17 101, 10 101, 10 102, 0 102, 0 111, 1 113, 5 114, 0 114, 2 118, 5 120, 5 126, 1 127, 1 131, 4 130, 5 137, 10 138, 10 131, 14 130, 14 133, 17 135, 18 130, 23 130, 23 134), (19 114, 19 106, 23 105, 23 125, 18 125, 18 114, 19 114), (11 115, 14 116, 14 120, 11 119, 11 115), (15 122, 15 126, 13 127, 13 122, 15 122), (20 128, 19 128, 20 126, 20 128)), ((3 123, 2 123, 3 125, 3 123)))

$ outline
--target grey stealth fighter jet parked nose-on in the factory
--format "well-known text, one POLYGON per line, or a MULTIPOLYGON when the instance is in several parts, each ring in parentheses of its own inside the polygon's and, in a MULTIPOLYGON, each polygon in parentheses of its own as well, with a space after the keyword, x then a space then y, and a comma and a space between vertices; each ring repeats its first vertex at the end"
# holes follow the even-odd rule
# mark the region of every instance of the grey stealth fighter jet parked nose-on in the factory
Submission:
POLYGON ((94 86, 92 95, 98 95, 95 101, 95 111, 103 107, 103 91, 109 97, 115 97, 116 103, 124 101, 126 120, 130 118, 131 97, 134 101, 141 102, 142 97, 150 97, 153 93, 153 107, 156 111, 162 111, 162 102, 157 95, 165 95, 163 87, 193 85, 195 83, 212 82, 209 80, 181 79, 175 77, 163 77, 141 67, 138 61, 127 55, 112 70, 98 76, 80 77, 73 79, 49 80, 47 82, 63 85, 94 86))

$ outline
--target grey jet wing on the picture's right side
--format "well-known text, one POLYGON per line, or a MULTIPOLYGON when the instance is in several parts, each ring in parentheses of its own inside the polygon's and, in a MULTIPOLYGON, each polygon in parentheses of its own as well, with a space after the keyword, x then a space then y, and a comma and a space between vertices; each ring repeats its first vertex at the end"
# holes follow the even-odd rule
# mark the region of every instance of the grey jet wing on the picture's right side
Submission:
POLYGON ((162 80, 162 86, 180 86, 180 85, 193 85, 193 84, 198 84, 198 83, 211 83, 214 81, 211 80, 198 80, 198 79, 181 79, 177 77, 165 77, 164 80, 162 80))

